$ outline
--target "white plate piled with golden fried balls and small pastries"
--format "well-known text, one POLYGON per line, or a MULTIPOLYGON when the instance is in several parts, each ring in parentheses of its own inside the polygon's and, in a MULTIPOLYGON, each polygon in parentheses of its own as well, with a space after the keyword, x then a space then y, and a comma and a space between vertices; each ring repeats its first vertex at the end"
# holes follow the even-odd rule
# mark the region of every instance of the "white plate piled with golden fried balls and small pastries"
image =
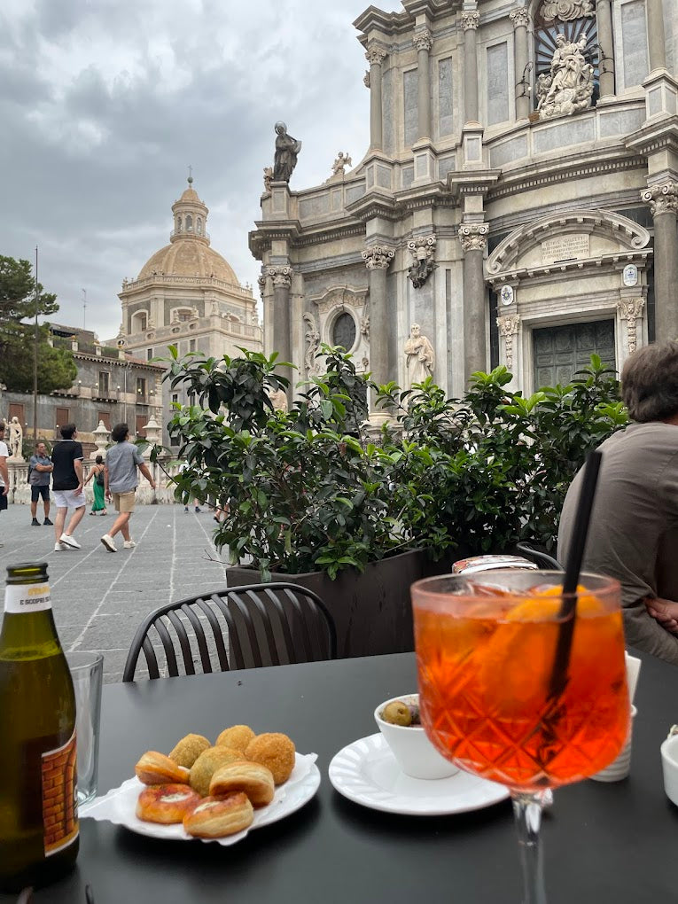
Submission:
POLYGON ((82 807, 80 818, 152 838, 235 844, 315 795, 316 758, 297 753, 287 735, 256 735, 248 725, 224 729, 213 744, 189 734, 168 755, 146 751, 136 776, 82 807))

